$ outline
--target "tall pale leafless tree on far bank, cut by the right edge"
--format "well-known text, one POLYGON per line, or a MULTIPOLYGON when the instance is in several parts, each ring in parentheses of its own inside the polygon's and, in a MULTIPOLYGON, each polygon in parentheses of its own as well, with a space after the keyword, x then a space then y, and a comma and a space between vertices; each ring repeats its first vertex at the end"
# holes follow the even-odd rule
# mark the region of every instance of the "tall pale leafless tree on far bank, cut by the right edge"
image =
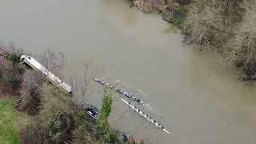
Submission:
POLYGON ((235 38, 230 42, 230 53, 226 58, 230 63, 242 63, 247 70, 256 63, 256 2, 246 0, 242 25, 237 27, 235 38))

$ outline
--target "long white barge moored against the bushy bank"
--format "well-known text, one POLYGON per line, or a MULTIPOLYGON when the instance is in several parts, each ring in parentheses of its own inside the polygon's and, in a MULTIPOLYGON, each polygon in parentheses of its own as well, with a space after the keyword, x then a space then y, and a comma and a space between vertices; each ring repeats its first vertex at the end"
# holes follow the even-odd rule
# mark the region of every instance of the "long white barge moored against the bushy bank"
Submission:
POLYGON ((70 96, 72 95, 72 89, 68 84, 66 84, 66 82, 63 82, 60 78, 51 73, 50 70, 46 69, 45 66, 42 66, 42 64, 40 64, 34 58, 27 55, 22 55, 20 60, 21 62, 24 62, 27 66, 30 66, 32 69, 41 72, 54 86, 57 86, 66 94, 69 94, 70 96))

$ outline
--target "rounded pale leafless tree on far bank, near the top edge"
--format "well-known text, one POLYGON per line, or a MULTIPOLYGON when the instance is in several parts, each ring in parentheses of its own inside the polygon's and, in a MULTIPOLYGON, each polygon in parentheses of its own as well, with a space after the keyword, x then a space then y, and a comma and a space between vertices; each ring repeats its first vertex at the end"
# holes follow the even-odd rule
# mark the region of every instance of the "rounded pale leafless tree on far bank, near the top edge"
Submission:
POLYGON ((216 0, 204 2, 202 7, 194 6, 187 18, 192 28, 192 37, 198 44, 210 44, 214 33, 222 31, 222 4, 216 0))

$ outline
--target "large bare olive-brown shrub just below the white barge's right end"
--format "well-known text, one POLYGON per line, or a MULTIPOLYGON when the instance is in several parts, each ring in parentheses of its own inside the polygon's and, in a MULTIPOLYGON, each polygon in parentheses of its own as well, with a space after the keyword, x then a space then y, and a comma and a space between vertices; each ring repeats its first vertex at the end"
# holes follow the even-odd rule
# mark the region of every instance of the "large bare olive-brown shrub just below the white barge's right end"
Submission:
MULTIPOLYGON (((54 86, 42 86, 42 105, 38 117, 42 126, 48 131, 49 138, 54 142, 71 142, 74 130, 74 111, 72 107, 62 102, 60 93, 54 86)), ((64 97, 64 96, 63 96, 64 97)))

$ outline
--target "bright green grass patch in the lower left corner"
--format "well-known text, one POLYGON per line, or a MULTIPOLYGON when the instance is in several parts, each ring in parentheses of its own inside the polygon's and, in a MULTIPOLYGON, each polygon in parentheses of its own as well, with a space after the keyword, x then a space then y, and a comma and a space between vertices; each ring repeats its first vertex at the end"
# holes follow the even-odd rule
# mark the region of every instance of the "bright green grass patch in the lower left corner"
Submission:
POLYGON ((0 143, 18 144, 15 130, 18 111, 14 109, 15 98, 0 99, 0 143))

